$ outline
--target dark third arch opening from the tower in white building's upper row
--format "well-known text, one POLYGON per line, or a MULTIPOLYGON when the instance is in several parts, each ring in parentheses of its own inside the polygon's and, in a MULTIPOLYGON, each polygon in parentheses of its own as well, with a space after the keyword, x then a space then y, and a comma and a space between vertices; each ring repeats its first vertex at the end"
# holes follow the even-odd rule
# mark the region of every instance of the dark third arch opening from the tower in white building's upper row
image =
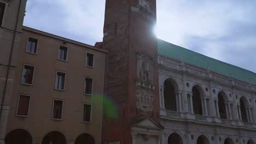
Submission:
POLYGON ((228 119, 228 113, 225 107, 224 98, 226 98, 226 95, 224 92, 218 93, 218 106, 219 106, 219 116, 223 119, 228 119))

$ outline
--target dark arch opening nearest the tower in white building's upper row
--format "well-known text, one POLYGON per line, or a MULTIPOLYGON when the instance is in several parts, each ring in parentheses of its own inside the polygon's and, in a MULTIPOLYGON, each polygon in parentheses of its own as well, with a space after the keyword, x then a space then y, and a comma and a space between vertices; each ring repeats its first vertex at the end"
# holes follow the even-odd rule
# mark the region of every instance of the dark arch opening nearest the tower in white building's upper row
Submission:
POLYGON ((168 111, 178 111, 178 98, 175 91, 178 90, 177 83, 172 79, 164 82, 165 109, 168 111))

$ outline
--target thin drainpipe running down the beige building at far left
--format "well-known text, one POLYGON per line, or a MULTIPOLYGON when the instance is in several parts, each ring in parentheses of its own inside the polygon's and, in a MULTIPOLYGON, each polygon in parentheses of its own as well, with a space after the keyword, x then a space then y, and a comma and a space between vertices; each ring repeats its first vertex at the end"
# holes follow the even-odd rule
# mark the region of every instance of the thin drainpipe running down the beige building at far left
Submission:
POLYGON ((14 40, 15 40, 15 38, 16 38, 16 33, 17 33, 18 20, 19 20, 19 15, 20 15, 20 7, 21 7, 21 0, 20 0, 20 2, 19 2, 19 8, 18 8, 18 13, 17 13, 17 17, 16 17, 16 23, 15 23, 15 30, 14 30, 13 42, 11 43, 11 51, 10 51, 10 56, 9 56, 8 69, 7 69, 7 74, 6 74, 6 78, 5 78, 4 91, 3 91, 3 98, 2 98, 1 109, 0 109, 0 118, 2 117, 2 112, 3 112, 3 103, 4 103, 5 92, 6 92, 7 82, 8 82, 8 77, 9 77, 9 70, 10 70, 11 58, 12 58, 12 56, 13 56, 14 40))

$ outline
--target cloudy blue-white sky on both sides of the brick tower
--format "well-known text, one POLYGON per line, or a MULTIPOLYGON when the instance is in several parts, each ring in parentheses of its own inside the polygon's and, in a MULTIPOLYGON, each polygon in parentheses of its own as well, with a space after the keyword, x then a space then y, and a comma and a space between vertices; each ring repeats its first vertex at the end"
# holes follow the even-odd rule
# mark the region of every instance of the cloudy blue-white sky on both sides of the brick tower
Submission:
MULTIPOLYGON (((94 45, 105 0, 28 0, 24 25, 94 45)), ((158 38, 256 72, 255 0, 157 0, 158 38)))

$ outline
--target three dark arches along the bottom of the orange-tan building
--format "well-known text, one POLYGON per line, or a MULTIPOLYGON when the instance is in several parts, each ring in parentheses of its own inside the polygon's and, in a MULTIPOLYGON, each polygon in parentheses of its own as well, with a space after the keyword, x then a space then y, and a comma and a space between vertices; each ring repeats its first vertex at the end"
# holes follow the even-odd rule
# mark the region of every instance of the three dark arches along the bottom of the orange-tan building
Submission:
MULTIPOLYGON (((5 144, 32 144, 32 136, 24 129, 15 129, 10 131, 4 139, 5 144)), ((66 144, 66 137, 59 131, 51 131, 46 134, 42 140, 42 144, 66 144)), ((90 134, 81 134, 75 139, 75 144, 95 144, 94 137, 90 134)))

